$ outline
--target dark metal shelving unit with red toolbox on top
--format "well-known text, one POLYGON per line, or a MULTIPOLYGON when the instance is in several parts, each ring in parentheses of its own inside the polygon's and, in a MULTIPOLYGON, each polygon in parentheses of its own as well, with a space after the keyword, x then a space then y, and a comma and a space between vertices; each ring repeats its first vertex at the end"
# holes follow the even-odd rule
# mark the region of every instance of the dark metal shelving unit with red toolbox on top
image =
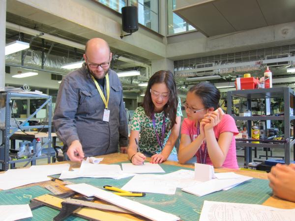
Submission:
MULTIPOLYGON (((295 139, 291 140, 290 123, 295 120, 295 114, 290 116, 291 101, 293 110, 295 109, 295 92, 289 87, 273 87, 264 89, 253 89, 253 90, 233 90, 227 92, 227 107, 228 114, 232 115, 233 118, 241 121, 247 121, 248 134, 251 133, 251 121, 271 121, 271 120, 281 120, 284 121, 284 143, 275 143, 275 140, 269 140, 273 143, 247 143, 236 141, 236 146, 244 147, 245 149, 245 161, 244 166, 248 166, 249 162, 252 162, 252 147, 266 147, 266 148, 282 148, 285 151, 285 163, 290 164, 291 147, 295 146, 295 139), (251 110, 251 100, 252 99, 266 99, 266 104, 270 104, 270 98, 283 98, 284 99, 284 115, 281 116, 235 116, 232 112, 233 98, 245 98, 247 99, 248 109, 251 110), (229 111, 231 110, 231 111, 229 111)), ((270 105, 268 107, 270 109, 270 105)), ((266 110, 269 112, 270 110, 266 110)), ((269 114, 269 113, 268 113, 269 114)), ((295 131, 295 126, 294 126, 295 131)), ((251 137, 251 136, 249 136, 251 137)), ((295 155, 295 153, 294 153, 295 155)), ((295 158, 295 156, 294 156, 295 158)))

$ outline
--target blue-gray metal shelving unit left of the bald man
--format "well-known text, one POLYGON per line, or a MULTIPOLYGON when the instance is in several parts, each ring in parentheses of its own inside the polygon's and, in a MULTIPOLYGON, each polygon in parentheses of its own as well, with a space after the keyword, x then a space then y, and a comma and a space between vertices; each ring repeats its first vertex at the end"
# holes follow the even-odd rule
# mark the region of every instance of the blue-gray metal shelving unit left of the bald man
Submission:
MULTIPOLYGON (((51 163, 51 149, 52 148, 52 138, 51 138, 51 121, 52 121, 52 96, 44 95, 44 94, 25 94, 25 93, 12 93, 12 92, 4 92, 0 93, 0 98, 5 100, 5 127, 0 128, 3 131, 2 133, 2 144, 0 145, 0 164, 2 165, 2 170, 9 169, 9 165, 14 165, 15 163, 20 162, 27 162, 27 164, 31 163, 31 165, 36 164, 36 159, 48 158, 48 163, 51 163), (11 126, 10 125, 10 118, 11 118, 11 105, 12 100, 15 99, 44 99, 44 103, 40 105, 40 107, 33 112, 29 117, 23 121, 18 126, 11 126), (48 110, 48 125, 36 125, 36 126, 23 126, 27 123, 33 116, 40 111, 43 107, 47 105, 48 110), (38 153, 35 153, 36 150, 36 142, 33 141, 33 148, 34 148, 34 155, 27 159, 22 160, 11 160, 10 159, 10 138, 11 136, 21 128, 22 130, 28 129, 40 129, 40 128, 48 128, 48 140, 42 146, 40 151, 43 149, 44 146, 48 147, 48 152, 44 156, 37 157, 38 153)), ((37 132, 36 132, 37 133, 37 132)), ((29 139, 28 139, 29 140, 29 139)))

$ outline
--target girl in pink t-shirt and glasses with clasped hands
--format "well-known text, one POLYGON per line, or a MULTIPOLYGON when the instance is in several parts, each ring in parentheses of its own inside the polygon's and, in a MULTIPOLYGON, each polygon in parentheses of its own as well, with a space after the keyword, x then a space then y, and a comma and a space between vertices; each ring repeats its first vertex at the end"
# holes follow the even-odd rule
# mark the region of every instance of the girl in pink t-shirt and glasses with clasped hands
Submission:
POLYGON ((199 83, 189 89, 184 104, 187 118, 181 126, 180 164, 196 155, 197 163, 238 168, 238 130, 234 118, 219 108, 219 99, 220 92, 211 83, 199 83))

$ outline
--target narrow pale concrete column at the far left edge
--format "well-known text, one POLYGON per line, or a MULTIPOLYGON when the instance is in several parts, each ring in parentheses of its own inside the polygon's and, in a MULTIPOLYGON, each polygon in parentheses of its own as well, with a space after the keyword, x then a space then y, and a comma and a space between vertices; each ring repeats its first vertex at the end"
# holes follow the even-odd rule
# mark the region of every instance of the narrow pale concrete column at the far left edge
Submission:
POLYGON ((5 85, 6 0, 0 0, 0 87, 5 85))

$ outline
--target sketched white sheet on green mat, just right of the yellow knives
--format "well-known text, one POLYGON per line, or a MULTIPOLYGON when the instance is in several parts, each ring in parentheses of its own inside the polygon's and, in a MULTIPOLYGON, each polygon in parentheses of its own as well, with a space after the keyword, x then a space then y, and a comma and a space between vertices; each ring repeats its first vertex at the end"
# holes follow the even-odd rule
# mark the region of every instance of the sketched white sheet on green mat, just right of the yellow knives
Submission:
POLYGON ((175 194, 177 182, 170 182, 163 175, 140 174, 132 177, 121 189, 144 193, 175 194))

